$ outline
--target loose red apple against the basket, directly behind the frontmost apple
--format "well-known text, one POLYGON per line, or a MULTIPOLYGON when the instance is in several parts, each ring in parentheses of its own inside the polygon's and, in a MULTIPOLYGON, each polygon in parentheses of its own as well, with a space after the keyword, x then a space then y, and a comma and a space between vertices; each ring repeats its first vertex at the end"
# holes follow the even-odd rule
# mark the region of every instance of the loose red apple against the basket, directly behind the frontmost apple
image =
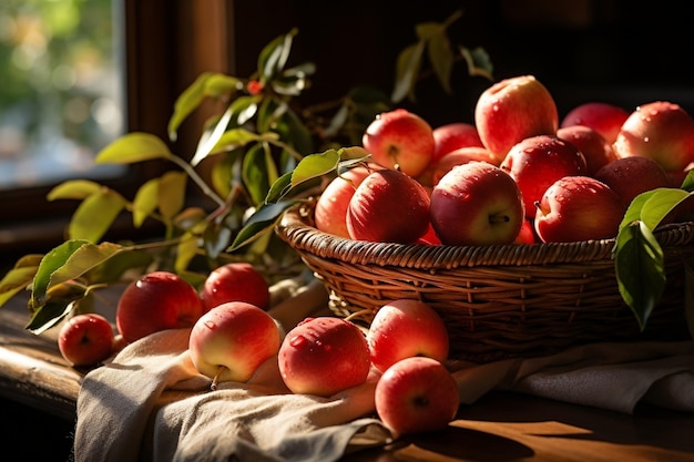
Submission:
POLYGON ((440 362, 448 358, 446 325, 439 314, 421 300, 402 298, 384 304, 374 315, 366 341, 371 363, 381 372, 412 356, 426 356, 440 362))

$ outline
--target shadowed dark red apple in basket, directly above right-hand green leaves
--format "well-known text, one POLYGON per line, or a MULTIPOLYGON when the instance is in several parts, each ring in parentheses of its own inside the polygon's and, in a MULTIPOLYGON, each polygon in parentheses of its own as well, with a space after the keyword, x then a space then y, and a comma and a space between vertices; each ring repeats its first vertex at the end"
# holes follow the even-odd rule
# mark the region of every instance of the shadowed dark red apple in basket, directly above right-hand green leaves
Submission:
POLYGON ((646 191, 672 186, 667 172, 649 157, 620 157, 603 165, 593 177, 610 186, 624 205, 646 191))

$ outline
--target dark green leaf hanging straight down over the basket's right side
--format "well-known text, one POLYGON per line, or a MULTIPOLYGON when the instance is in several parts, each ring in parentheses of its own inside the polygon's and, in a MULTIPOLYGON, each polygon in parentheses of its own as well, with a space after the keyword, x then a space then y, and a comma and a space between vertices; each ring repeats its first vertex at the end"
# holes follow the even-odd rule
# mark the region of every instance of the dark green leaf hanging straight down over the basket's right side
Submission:
POLYGON ((643 330, 665 288, 663 250, 643 222, 620 229, 616 248, 614 265, 619 290, 643 330))

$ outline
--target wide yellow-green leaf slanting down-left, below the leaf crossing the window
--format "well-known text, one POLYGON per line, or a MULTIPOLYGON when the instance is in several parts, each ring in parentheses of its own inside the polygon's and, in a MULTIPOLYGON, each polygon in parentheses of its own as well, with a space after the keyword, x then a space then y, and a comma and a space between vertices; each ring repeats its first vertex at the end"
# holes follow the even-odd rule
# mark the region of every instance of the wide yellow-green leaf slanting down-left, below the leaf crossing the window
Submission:
POLYGON ((92 194, 82 201, 70 218, 69 238, 92 243, 101 240, 125 205, 127 201, 112 189, 102 188, 92 194))

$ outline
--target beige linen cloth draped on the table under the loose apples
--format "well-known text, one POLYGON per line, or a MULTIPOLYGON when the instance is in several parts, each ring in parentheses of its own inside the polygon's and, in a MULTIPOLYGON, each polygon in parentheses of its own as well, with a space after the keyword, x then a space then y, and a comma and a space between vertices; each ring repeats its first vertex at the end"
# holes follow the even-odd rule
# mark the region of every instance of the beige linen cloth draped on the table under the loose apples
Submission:
MULTIPOLYGON (((286 297, 271 309, 285 330, 317 308, 325 311, 319 286, 289 287, 286 297)), ((377 373, 330 398, 292 394, 272 358, 247 383, 212 391, 191 362, 188 335, 149 336, 84 377, 75 462, 329 462, 394 441, 375 411, 377 373)), ((694 341, 593 343, 540 358, 448 366, 461 405, 510 390, 626 413, 640 402, 694 412, 694 341)))

